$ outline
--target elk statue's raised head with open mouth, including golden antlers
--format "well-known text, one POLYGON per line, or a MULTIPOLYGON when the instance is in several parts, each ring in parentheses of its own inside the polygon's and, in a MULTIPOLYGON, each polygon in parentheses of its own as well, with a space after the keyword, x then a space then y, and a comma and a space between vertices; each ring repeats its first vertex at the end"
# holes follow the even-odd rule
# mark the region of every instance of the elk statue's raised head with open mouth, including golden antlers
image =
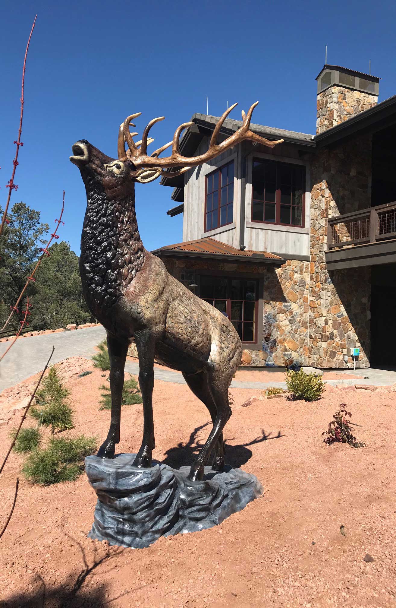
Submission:
POLYGON ((87 181, 90 182, 92 179, 94 182, 100 181, 106 190, 108 198, 123 198, 130 190, 133 190, 132 184, 134 182, 147 184, 160 176, 176 177, 185 173, 191 167, 196 167, 196 165, 210 161, 225 150, 228 150, 228 148, 236 145, 236 143, 244 140, 261 143, 269 148, 282 143, 283 139, 270 141, 250 131, 251 115, 258 103, 253 103, 247 114, 242 110, 242 126, 230 137, 217 143, 217 136, 224 120, 231 110, 237 106, 237 103, 228 108, 214 127, 207 152, 199 156, 185 157, 179 151, 180 134, 183 130, 193 125, 193 122, 185 122, 180 125, 176 129, 171 142, 166 143, 148 156, 147 147, 149 143, 154 141, 154 139, 148 137, 149 131, 156 122, 164 120, 165 117, 160 116, 159 118, 152 119, 143 131, 142 139, 134 142, 133 137, 137 133, 131 133, 130 128, 131 126, 135 126, 131 121, 140 116, 141 112, 138 112, 137 114, 128 116, 125 122, 120 125, 118 132, 118 159, 106 156, 86 140, 81 139, 73 145, 73 156, 70 156, 70 161, 80 168, 84 182, 86 182, 86 187, 87 181), (128 145, 128 150, 125 150, 125 143, 128 145), (159 155, 170 146, 172 146, 171 156, 160 158, 159 155), (166 171, 166 169, 175 167, 177 168, 176 171, 166 171))

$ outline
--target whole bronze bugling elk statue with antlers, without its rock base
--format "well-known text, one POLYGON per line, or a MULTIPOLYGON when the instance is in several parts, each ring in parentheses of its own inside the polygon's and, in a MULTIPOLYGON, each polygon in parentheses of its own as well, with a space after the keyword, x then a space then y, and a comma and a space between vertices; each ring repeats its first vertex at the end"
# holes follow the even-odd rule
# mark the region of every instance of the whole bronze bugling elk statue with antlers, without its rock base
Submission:
MULTIPOLYGON (((258 102, 257 102, 258 103, 258 102)), ((118 134, 118 159, 112 159, 84 139, 73 147, 72 161, 80 169, 87 209, 81 235, 80 274, 83 293, 91 313, 106 328, 110 358, 111 424, 98 456, 112 458, 120 441, 121 393, 128 346, 132 339, 139 359, 139 384, 143 398, 143 441, 134 466, 150 467, 154 443, 152 390, 154 358, 182 371, 186 383, 207 406, 213 429, 189 472, 200 480, 214 449, 212 468, 224 467, 222 431, 231 415, 228 387, 241 362, 242 345, 227 317, 199 299, 166 271, 162 260, 143 246, 135 215, 135 182, 151 182, 160 175, 177 176, 189 168, 210 161, 242 140, 273 148, 269 141, 250 131, 251 114, 242 111, 242 126, 217 142, 224 120, 237 105, 227 109, 217 122, 208 151, 186 158, 180 154, 179 139, 192 122, 180 125, 172 142, 147 154, 153 140, 149 131, 164 117, 155 118, 134 142, 128 116, 118 134), (128 150, 125 150, 125 143, 128 150), (159 155, 172 146, 171 156, 159 155), (176 171, 165 171, 174 168, 176 171)))

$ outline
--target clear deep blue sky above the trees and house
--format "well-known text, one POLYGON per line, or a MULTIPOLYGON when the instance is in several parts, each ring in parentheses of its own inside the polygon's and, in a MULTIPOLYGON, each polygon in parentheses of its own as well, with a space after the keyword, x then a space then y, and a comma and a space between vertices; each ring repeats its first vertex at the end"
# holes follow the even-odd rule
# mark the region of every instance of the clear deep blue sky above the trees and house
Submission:
MULTIPOLYGON (((155 143, 168 142, 194 112, 231 116, 260 101, 254 122, 315 132, 315 77, 328 63, 368 72, 380 98, 396 94, 395 2, 260 0, 199 2, 53 2, 2 0, 0 205, 12 172, 19 121, 21 68, 35 13, 27 63, 19 167, 22 200, 54 227, 62 190, 60 237, 80 253, 86 199, 71 146, 87 139, 117 155, 118 125, 132 112, 139 133, 155 116, 155 143)), ((147 249, 182 240, 182 216, 169 218, 171 188, 137 185, 137 216, 147 249)))

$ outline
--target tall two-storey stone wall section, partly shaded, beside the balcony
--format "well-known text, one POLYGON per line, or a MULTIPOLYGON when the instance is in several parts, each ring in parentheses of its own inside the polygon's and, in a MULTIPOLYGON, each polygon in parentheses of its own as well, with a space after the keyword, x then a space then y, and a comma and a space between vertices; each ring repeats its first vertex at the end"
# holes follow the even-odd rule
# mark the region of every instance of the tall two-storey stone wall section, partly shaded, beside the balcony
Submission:
POLYGON ((329 273, 325 252, 327 218, 370 207, 370 136, 318 150, 311 176, 309 362, 352 367, 344 356, 360 347, 358 367, 369 367, 370 268, 329 273))

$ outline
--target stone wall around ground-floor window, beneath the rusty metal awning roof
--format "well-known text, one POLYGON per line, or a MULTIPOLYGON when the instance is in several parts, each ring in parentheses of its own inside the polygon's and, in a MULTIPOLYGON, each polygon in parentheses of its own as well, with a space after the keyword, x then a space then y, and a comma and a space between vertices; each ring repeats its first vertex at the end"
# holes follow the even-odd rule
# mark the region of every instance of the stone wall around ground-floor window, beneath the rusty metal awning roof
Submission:
POLYGON ((227 262, 177 260, 163 262, 178 280, 183 270, 256 274, 264 281, 263 327, 259 350, 246 348, 242 365, 268 367, 308 362, 309 263, 287 260, 281 268, 227 262))

